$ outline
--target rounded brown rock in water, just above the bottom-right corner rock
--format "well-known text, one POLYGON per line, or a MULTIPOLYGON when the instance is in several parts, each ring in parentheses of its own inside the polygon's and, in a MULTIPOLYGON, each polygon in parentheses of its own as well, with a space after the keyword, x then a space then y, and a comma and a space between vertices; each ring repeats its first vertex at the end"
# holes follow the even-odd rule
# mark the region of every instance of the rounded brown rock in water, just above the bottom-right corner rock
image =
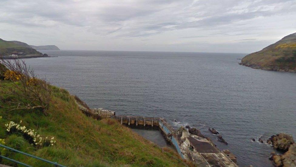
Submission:
POLYGON ((291 135, 280 133, 277 135, 271 136, 267 140, 268 144, 272 144, 272 146, 280 151, 287 151, 291 144, 294 144, 293 137, 291 135))

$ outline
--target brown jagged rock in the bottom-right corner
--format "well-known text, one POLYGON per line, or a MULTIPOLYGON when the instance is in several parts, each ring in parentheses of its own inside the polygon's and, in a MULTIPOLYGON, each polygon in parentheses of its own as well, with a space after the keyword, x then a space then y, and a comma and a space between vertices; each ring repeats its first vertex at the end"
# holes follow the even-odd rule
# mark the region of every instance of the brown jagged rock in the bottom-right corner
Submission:
POLYGON ((270 158, 275 166, 296 166, 296 144, 291 144, 288 151, 284 153, 284 155, 275 155, 275 153, 271 153, 270 158))

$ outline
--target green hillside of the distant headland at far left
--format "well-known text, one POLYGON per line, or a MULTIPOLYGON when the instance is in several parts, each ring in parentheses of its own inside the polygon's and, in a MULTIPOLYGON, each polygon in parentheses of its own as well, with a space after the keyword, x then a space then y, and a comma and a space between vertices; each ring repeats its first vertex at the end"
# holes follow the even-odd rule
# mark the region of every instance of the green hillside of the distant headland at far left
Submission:
POLYGON ((0 39, 0 55, 6 56, 11 54, 14 51, 23 52, 25 54, 42 54, 35 49, 22 47, 12 41, 5 41, 0 39))

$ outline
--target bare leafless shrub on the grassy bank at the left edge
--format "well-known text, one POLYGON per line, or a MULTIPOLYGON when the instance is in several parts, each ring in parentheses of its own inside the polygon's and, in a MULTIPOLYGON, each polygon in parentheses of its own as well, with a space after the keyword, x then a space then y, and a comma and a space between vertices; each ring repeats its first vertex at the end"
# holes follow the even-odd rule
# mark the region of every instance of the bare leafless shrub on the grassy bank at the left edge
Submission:
POLYGON ((9 84, 0 82, 0 107, 9 110, 39 108, 45 113, 52 98, 52 89, 45 78, 38 78, 34 71, 19 59, 1 60, 8 69, 4 74, 9 84))

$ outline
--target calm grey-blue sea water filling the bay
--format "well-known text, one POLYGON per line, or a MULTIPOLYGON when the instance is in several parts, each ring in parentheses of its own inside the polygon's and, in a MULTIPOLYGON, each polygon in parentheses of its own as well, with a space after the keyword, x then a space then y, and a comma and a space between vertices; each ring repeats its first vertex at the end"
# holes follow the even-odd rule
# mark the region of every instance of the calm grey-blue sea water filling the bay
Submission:
POLYGON ((239 165, 271 166, 274 150, 251 138, 266 140, 280 132, 296 138, 296 74, 238 65, 244 54, 42 52, 58 57, 25 61, 90 107, 197 127, 220 149, 233 152, 239 165), (209 127, 228 145, 216 141, 209 127))

